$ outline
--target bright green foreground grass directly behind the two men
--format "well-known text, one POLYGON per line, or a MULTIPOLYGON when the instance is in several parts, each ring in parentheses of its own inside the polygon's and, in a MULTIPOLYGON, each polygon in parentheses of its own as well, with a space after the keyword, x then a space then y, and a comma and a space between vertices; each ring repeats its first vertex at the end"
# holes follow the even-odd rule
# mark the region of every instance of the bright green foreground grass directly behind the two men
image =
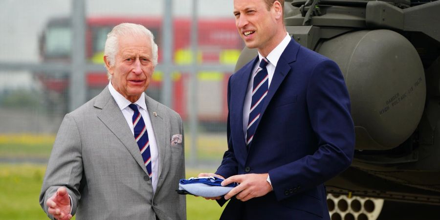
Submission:
MULTIPOLYGON (((44 220, 38 203, 45 165, 0 164, 0 220, 44 220)), ((187 170, 187 176, 199 171, 187 170)), ((186 196, 188 220, 218 220, 223 208, 215 201, 186 196)), ((224 206, 223 206, 224 207, 224 206)))

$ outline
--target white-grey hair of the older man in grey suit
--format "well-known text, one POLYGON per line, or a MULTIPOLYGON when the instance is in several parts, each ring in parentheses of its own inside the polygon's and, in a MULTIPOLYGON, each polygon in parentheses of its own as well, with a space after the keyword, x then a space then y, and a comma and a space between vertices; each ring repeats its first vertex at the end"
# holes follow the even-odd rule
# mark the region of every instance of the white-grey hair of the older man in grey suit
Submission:
MULTIPOLYGON (((150 30, 140 24, 121 23, 113 27, 107 35, 106 45, 104 47, 104 56, 107 57, 110 66, 114 66, 116 53, 118 52, 118 38, 127 35, 147 36, 151 41, 151 50, 153 55, 153 66, 157 65, 157 44, 154 43, 154 36, 150 30)), ((111 75, 107 72, 109 79, 111 75)))

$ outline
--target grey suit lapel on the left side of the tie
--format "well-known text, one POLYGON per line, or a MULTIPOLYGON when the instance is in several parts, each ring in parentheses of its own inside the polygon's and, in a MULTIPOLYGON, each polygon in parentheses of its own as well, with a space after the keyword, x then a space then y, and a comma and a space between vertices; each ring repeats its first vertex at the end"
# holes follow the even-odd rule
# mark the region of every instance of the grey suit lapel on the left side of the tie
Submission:
POLYGON ((101 94, 99 94, 97 97, 94 106, 102 109, 102 111, 98 114, 98 118, 122 142, 130 154, 132 154, 139 166, 144 170, 145 173, 147 173, 142 155, 139 152, 139 147, 134 140, 132 132, 130 132, 130 127, 125 120, 122 111, 119 109, 118 105, 111 96, 109 88, 104 88, 101 94))

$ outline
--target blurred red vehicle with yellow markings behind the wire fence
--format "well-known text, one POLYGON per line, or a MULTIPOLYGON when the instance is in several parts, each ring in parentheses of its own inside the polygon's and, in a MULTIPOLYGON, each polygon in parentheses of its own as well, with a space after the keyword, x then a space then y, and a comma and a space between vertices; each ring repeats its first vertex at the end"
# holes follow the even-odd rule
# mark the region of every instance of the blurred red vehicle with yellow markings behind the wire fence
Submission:
MULTIPOLYGON (((51 19, 40 38, 40 55, 44 62, 70 62, 71 34, 68 18, 51 19)), ((162 51, 162 20, 155 17, 92 17, 87 18, 86 57, 88 62, 104 65, 103 53, 107 34, 113 26, 122 22, 139 23, 152 31, 159 47, 159 64, 162 51)), ((191 65, 191 20, 174 18, 173 61, 176 65, 191 65)), ((200 19, 198 21, 198 63, 235 65, 244 44, 235 27, 234 19, 200 19)), ((231 73, 198 72, 198 119, 206 123, 225 122, 227 117, 226 89, 231 73)), ((66 93, 68 73, 36 73, 50 106, 57 106, 59 113, 67 112, 66 93), (53 103, 52 103, 53 102, 53 103)), ((155 71, 147 94, 160 101, 162 72, 155 71)), ((88 72, 87 97, 97 95, 109 81, 106 72, 88 72)), ((189 74, 172 73, 172 108, 185 120, 188 117, 189 74)))

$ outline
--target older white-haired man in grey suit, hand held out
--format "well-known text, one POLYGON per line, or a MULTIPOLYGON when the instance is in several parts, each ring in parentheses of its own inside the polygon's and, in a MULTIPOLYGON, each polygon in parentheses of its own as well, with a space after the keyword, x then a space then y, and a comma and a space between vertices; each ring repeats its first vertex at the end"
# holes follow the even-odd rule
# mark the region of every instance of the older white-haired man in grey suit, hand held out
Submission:
POLYGON ((51 219, 186 219, 183 126, 145 95, 157 45, 142 25, 107 36, 109 86, 66 114, 50 155, 40 204, 51 219))

